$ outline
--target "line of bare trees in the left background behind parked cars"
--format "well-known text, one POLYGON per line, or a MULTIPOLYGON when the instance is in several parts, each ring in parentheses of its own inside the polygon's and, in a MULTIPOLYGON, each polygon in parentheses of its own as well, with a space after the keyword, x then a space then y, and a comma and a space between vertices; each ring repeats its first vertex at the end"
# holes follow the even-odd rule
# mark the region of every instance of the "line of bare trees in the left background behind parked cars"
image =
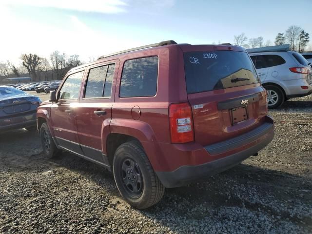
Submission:
POLYGON ((62 79, 71 68, 82 64, 78 55, 67 56, 59 51, 54 51, 49 59, 36 54, 22 54, 20 60, 19 67, 10 61, 0 62, 0 81, 21 76, 30 76, 33 81, 62 79))

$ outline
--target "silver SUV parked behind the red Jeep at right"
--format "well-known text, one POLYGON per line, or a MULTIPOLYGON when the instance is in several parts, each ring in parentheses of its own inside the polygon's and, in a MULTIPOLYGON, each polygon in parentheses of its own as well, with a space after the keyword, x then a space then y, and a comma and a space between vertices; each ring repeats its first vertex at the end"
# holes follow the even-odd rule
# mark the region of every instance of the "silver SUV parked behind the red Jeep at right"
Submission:
MULTIPOLYGON (((259 48, 261 49, 261 48, 259 48)), ((268 107, 277 108, 289 98, 312 94, 312 68, 294 51, 259 52, 247 50, 263 87, 268 92, 268 107)))

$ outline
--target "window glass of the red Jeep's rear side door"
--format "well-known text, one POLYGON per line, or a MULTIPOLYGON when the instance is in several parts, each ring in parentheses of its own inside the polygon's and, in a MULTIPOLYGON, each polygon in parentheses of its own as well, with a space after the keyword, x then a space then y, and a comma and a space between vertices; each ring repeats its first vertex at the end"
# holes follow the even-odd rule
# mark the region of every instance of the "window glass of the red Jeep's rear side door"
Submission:
POLYGON ((108 66, 106 65, 90 69, 84 95, 85 98, 102 97, 107 68, 108 66))

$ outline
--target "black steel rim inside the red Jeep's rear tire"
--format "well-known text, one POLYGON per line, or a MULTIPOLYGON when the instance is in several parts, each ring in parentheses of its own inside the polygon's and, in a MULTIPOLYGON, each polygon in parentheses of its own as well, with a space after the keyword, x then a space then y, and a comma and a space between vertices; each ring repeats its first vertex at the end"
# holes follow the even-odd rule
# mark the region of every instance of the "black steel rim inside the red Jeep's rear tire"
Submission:
POLYGON ((121 176, 123 187, 133 198, 142 194, 143 178, 137 163, 131 158, 125 158, 121 163, 121 176))

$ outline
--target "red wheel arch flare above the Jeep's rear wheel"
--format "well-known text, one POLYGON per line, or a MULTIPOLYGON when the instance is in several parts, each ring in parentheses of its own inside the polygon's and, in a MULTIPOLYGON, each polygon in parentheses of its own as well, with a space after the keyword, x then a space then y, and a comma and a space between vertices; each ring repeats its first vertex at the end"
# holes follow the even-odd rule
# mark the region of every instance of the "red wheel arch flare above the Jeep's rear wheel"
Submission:
MULTIPOLYGON (((156 141, 155 133, 149 124, 133 119, 112 119, 110 123, 110 133, 124 134, 137 138, 142 144, 153 169, 155 171, 160 169, 162 152, 156 141)), ((103 137, 103 142, 106 142, 108 137, 107 132, 103 137)), ((106 144, 103 144, 103 152, 107 152, 106 144)))

